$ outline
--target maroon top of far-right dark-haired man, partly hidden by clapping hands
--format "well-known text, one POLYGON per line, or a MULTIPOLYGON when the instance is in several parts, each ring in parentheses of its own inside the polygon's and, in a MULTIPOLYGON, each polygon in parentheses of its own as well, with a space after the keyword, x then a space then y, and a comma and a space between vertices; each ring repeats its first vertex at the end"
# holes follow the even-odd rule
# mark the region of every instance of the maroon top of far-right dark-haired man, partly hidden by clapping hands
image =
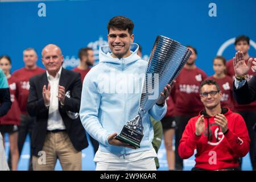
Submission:
MULTIPOLYGON (((245 60, 246 64, 248 63, 248 60, 245 60)), ((227 75, 235 79, 236 73, 234 72, 234 65, 233 65, 233 59, 229 60, 226 63, 226 71, 227 75)), ((250 80, 251 77, 254 76, 254 72, 251 71, 251 69, 248 72, 248 78, 247 81, 250 80)), ((235 111, 255 111, 256 110, 256 101, 251 102, 251 104, 246 104, 246 105, 238 105, 237 102, 234 100, 234 110, 235 111)))

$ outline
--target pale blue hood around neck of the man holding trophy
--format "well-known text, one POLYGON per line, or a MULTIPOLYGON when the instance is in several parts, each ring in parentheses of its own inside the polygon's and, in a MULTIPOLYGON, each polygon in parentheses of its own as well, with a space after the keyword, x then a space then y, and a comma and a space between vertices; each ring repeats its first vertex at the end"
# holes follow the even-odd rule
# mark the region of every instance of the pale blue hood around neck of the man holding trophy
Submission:
POLYGON ((130 64, 132 64, 134 61, 140 60, 141 57, 137 55, 139 46, 136 43, 131 43, 130 46, 131 55, 128 57, 124 57, 121 59, 114 58, 111 55, 111 50, 109 46, 101 46, 100 47, 100 53, 99 53, 99 60, 100 63, 108 63, 112 64, 113 67, 117 69, 126 69, 129 67, 130 64))

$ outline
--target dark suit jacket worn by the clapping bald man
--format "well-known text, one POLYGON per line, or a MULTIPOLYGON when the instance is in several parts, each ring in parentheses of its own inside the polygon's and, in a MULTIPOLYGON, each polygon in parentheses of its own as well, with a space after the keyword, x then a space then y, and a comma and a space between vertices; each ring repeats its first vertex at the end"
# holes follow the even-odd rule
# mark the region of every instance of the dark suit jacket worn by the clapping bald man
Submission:
MULTIPOLYGON (((32 155, 35 156, 38 156, 38 152, 42 150, 47 133, 49 109, 44 105, 43 101, 44 85, 48 85, 46 72, 30 78, 27 111, 31 117, 36 117, 31 139, 32 155)), ((81 151, 88 146, 85 129, 82 126, 80 117, 71 119, 66 113, 68 110, 79 113, 82 90, 80 73, 62 68, 59 85, 65 87, 65 92, 71 91, 71 98, 65 97, 64 106, 61 106, 59 102, 59 111, 73 146, 77 151, 81 151)))

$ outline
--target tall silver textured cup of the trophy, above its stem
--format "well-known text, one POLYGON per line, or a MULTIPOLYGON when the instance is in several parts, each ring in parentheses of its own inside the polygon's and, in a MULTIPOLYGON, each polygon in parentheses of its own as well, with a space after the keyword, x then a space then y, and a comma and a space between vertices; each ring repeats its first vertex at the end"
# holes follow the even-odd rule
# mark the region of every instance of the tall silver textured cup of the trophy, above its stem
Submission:
POLYGON ((177 77, 190 55, 191 51, 179 42, 157 36, 148 61, 139 107, 151 109, 164 86, 177 77))

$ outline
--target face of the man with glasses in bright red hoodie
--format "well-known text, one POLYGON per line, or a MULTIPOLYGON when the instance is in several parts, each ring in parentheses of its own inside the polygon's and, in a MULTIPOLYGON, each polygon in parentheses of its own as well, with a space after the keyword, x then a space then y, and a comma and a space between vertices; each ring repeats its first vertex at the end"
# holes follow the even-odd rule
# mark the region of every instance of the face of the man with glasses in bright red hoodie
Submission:
POLYGON ((201 88, 200 98, 204 106, 211 110, 215 107, 220 107, 220 100, 222 97, 221 91, 219 92, 216 85, 204 85, 201 88))

